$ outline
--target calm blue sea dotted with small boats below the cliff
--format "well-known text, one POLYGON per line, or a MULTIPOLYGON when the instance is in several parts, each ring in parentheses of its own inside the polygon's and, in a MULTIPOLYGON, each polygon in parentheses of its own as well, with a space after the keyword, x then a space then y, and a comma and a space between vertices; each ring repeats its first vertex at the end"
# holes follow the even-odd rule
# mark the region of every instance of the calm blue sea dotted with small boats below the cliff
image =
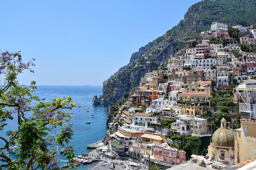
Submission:
MULTIPOLYGON (((74 130, 73 139, 70 140, 69 145, 75 146, 76 156, 86 153, 91 149, 87 149, 86 146, 95 143, 105 136, 105 131, 108 129, 106 124, 108 105, 92 105, 93 95, 102 95, 102 86, 37 86, 33 95, 39 96, 41 101, 51 101, 57 97, 71 96, 73 102, 76 103, 76 107, 72 110, 65 109, 65 111, 72 114, 71 123, 74 130), (78 107, 81 106, 81 107, 78 107), (80 111, 79 111, 80 110, 80 111), (86 112, 89 110, 89 112, 86 112), (86 124, 87 121, 91 121, 91 124, 86 124)), ((36 104, 36 102, 33 102, 36 104)), ((31 113, 28 113, 28 116, 31 113)), ((15 119, 15 118, 14 118, 15 119)), ((6 120, 4 123, 7 125, 4 130, 0 131, 1 136, 5 136, 5 132, 8 130, 17 129, 17 121, 6 120)), ((0 146, 3 146, 3 141, 0 140, 0 146)), ((6 151, 5 151, 6 152, 6 151)), ((11 153, 11 158, 17 158, 17 156, 11 153)), ((60 166, 66 163, 65 158, 60 158, 60 166)), ((94 164, 82 165, 78 170, 85 170, 91 168, 94 164)))

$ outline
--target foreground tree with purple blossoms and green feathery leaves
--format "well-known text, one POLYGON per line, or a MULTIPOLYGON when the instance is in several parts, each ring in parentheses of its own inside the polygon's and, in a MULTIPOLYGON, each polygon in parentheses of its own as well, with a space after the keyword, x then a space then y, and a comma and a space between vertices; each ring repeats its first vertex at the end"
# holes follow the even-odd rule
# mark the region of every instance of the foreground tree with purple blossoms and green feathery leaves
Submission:
POLYGON ((65 146, 70 143, 73 130, 69 122, 71 114, 63 109, 72 109, 76 106, 71 97, 54 98, 51 102, 42 102, 33 92, 37 89, 36 82, 31 81, 29 87, 18 85, 17 76, 24 70, 34 72, 30 67, 34 59, 23 62, 20 52, 0 54, 0 130, 8 124, 4 119, 17 120, 18 129, 7 131, 2 139, 0 169, 59 169, 57 156, 60 148, 65 149, 65 158, 68 159, 67 168, 77 168, 79 163, 73 160, 74 147, 65 146), (31 102, 38 102, 32 106, 31 102), (28 114, 31 113, 30 114, 28 114), (28 116, 29 115, 29 116, 28 116), (60 131, 56 131, 56 127, 60 131), (18 145, 18 158, 10 158, 11 146, 18 145))

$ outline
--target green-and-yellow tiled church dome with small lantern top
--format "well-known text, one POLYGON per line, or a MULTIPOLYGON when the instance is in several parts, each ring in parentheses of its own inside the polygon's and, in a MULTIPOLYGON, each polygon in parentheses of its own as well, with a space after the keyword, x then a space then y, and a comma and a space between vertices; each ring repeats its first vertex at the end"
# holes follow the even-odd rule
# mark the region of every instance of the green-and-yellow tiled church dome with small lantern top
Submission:
MULTIPOLYGON (((224 119, 224 121, 226 120, 224 119)), ((212 135, 212 144, 217 146, 232 147, 234 146, 234 140, 233 132, 226 127, 220 127, 212 135)))

